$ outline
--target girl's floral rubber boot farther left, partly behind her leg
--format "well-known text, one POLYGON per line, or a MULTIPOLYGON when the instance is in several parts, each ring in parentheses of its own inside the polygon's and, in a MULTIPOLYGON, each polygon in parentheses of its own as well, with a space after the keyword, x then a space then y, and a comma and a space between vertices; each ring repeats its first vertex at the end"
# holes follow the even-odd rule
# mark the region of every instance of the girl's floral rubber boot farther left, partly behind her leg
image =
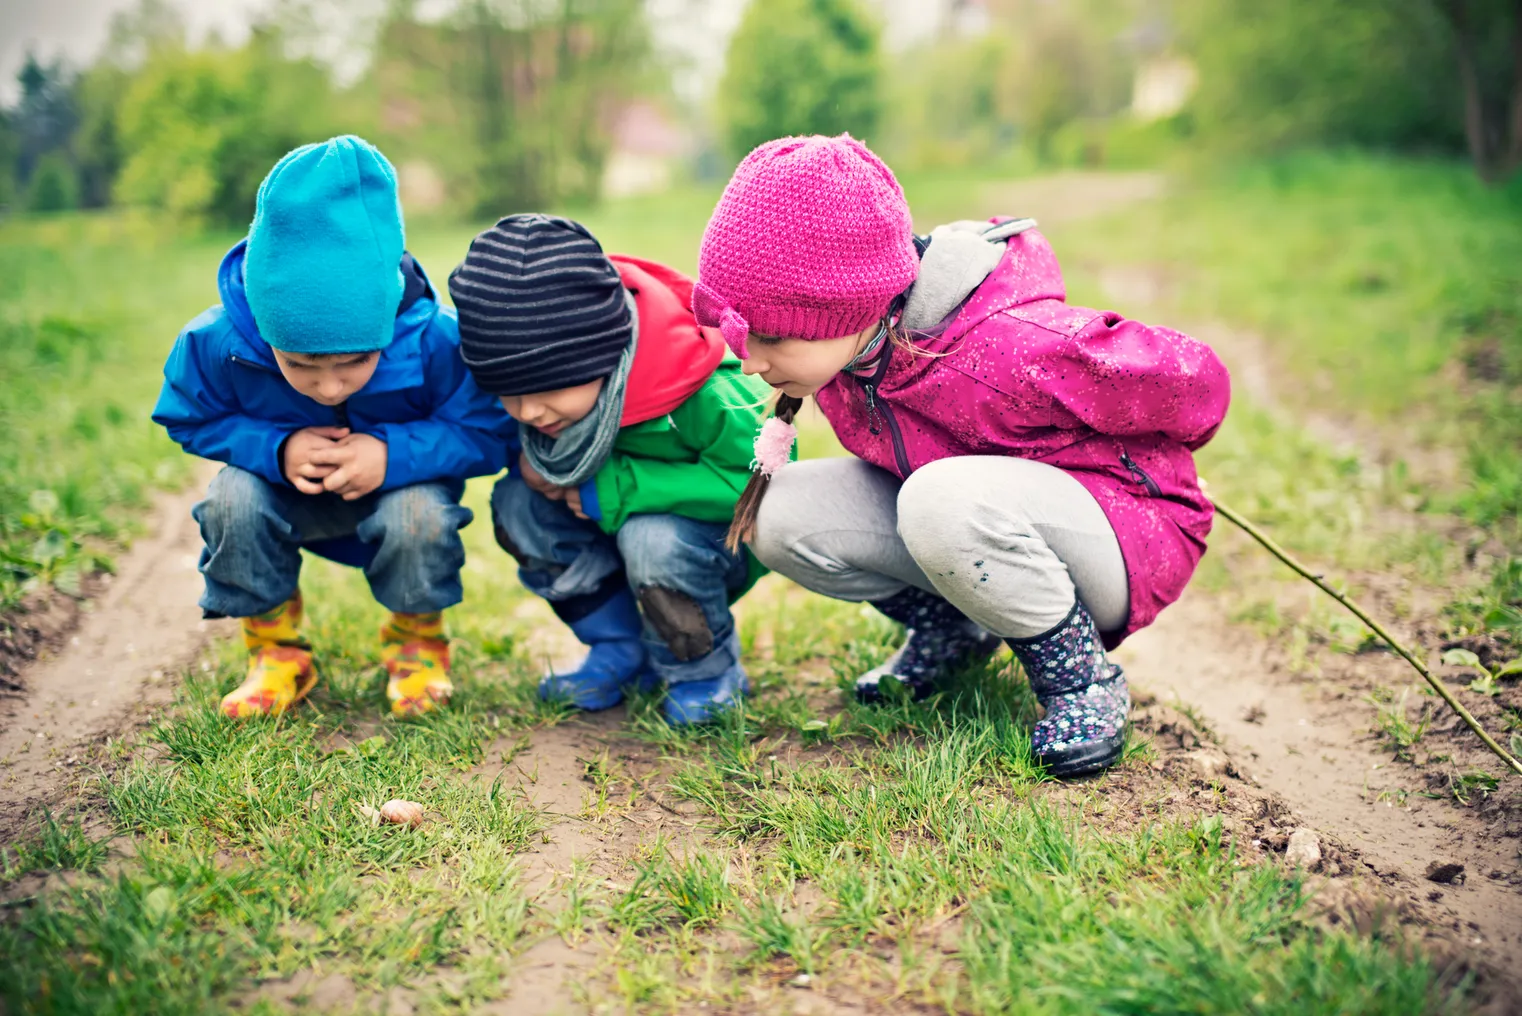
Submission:
POLYGON ((910 698, 919 701, 957 668, 986 660, 998 649, 998 636, 983 631, 950 602, 916 586, 872 605, 904 625, 909 637, 881 666, 857 678, 857 701, 868 706, 884 701, 884 677, 895 677, 910 698))

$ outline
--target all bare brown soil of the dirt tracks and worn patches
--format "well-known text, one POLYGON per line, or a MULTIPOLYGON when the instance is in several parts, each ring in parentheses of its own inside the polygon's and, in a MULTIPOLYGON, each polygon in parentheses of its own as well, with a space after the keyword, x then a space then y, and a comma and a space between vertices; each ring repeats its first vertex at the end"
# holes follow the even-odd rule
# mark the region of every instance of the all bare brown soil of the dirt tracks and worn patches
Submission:
MULTIPOLYGON (((998 205, 1052 222, 1148 199, 1161 187, 1152 175, 1070 173, 1001 189, 998 205)), ((1117 289, 1138 286, 1134 275, 1114 278, 1120 280, 1111 280, 1117 289)), ((1145 312, 1149 292, 1155 297, 1157 287, 1117 295, 1128 295, 1126 303, 1142 304, 1145 312)), ((1272 365, 1260 345, 1250 336, 1233 341, 1219 329, 1210 329, 1208 338, 1243 388, 1271 395, 1272 365)), ((1339 421, 1318 426, 1338 444, 1361 440, 1356 429, 1339 421)), ((154 535, 132 548, 91 608, 78 611, 72 637, 59 636, 73 622, 67 618, 52 627, 38 621, 40 634, 27 636, 33 648, 24 651, 38 659, 21 668, 17 683, 24 691, 0 698, 0 838, 14 838, 40 808, 79 792, 79 764, 99 757, 107 738, 142 722, 164 703, 169 678, 192 665, 221 631, 219 624, 201 622, 195 607, 199 540, 189 506, 198 491, 199 484, 161 500, 154 513, 154 535)), ((1231 552, 1231 540, 1239 538, 1224 528, 1216 535, 1224 552, 1231 552)), ((1393 602, 1396 592, 1388 596, 1393 602)), ((1484 759, 1469 732, 1447 724, 1441 713, 1428 733, 1432 741, 1425 744, 1429 754, 1452 756, 1449 768, 1396 762, 1379 745, 1370 730, 1374 710, 1364 695, 1380 684, 1409 684, 1414 675, 1402 672, 1405 665, 1380 652, 1321 652, 1320 675, 1306 678, 1289 666, 1283 648, 1224 621, 1228 599, 1225 593, 1192 590, 1117 654, 1135 683, 1135 727, 1152 739, 1157 760, 1099 782, 1047 785, 1041 792, 1062 797, 1097 789, 1097 820, 1126 827, 1169 815, 1219 814, 1224 832, 1243 856, 1288 855, 1294 833, 1310 830, 1313 835, 1303 833, 1295 844, 1304 849, 1315 841, 1320 858, 1309 867, 1321 879, 1317 899, 1324 920, 1362 931, 1382 922, 1408 926, 1455 976, 1476 972, 1493 1011, 1522 1011, 1513 1008, 1522 998, 1516 981, 1522 970, 1517 780, 1502 780, 1496 794, 1472 799, 1469 806, 1446 788, 1423 795, 1432 791, 1428 771, 1446 779, 1443 774, 1455 767, 1481 765, 1484 759), (1463 872, 1457 873, 1455 865, 1463 872), (1429 870, 1444 881, 1431 881, 1429 870)), ((1385 602, 1376 599, 1376 607, 1385 602)), ((40 610, 52 616, 47 611, 67 614, 70 607, 40 610)), ((1417 614, 1402 634, 1417 636, 1429 649, 1440 648, 1434 611, 1417 614)), ((537 652, 549 659, 566 652, 563 637, 556 634, 559 625, 539 624, 549 621, 548 611, 530 607, 519 621, 540 639, 537 652)), ((1513 691, 1507 695, 1514 697, 1513 691)), ((527 744, 502 741, 481 770, 489 777, 505 773, 505 780, 552 815, 542 843, 525 855, 524 868, 545 908, 554 908, 562 897, 572 861, 575 878, 616 888, 627 885, 639 844, 656 833, 677 850, 709 844, 700 815, 689 805, 662 797, 661 760, 648 745, 622 733, 624 719, 624 710, 615 709, 536 730, 527 744), (597 805, 592 792, 598 780, 612 802, 603 808, 589 806, 597 805)), ((936 929, 936 943, 948 955, 957 928, 959 919, 950 916, 936 929)), ((546 937, 519 957, 511 995, 493 1011, 584 1011, 578 987, 594 976, 597 963, 595 943, 546 937)), ((881 1011, 860 1001, 881 998, 863 995, 863 986, 814 984, 801 990, 790 976, 781 972, 773 992, 756 995, 755 1010, 781 1005, 822 1013, 881 1011)), ((271 984, 268 993, 342 1001, 352 987, 271 984)))

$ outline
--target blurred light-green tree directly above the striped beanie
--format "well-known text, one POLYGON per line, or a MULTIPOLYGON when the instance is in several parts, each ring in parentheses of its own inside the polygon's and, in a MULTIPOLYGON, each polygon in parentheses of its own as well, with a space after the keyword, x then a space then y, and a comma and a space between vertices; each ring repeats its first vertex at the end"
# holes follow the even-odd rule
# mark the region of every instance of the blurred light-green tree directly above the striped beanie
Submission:
POLYGON ((402 5, 361 91, 387 144, 501 216, 597 196, 613 117, 654 84, 648 53, 641 0, 467 0, 441 23, 402 5))

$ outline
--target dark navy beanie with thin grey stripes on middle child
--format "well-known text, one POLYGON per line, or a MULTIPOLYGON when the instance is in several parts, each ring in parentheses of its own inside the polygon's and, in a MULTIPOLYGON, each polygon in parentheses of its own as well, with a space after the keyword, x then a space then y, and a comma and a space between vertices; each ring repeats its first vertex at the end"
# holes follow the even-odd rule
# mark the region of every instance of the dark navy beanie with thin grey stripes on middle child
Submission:
POLYGON ((633 338, 624 283, 580 222, 511 214, 470 242, 449 275, 460 354, 493 395, 607 377, 633 338))

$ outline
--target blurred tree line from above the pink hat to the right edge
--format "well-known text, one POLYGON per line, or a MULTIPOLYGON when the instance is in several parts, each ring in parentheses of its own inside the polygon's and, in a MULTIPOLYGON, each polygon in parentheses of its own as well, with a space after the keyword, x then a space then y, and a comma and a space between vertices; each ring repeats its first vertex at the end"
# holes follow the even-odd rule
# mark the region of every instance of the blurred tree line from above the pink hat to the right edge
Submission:
POLYGON ((886 56, 858 0, 753 0, 720 88, 731 155, 849 128, 913 166, 1017 146, 1047 163, 1103 163, 1170 144, 1353 144, 1467 151, 1492 181, 1522 167, 1522 0, 948 6, 938 38, 886 56), (1198 85, 1143 123, 1131 116, 1137 75, 1161 61, 1183 61, 1198 85))

